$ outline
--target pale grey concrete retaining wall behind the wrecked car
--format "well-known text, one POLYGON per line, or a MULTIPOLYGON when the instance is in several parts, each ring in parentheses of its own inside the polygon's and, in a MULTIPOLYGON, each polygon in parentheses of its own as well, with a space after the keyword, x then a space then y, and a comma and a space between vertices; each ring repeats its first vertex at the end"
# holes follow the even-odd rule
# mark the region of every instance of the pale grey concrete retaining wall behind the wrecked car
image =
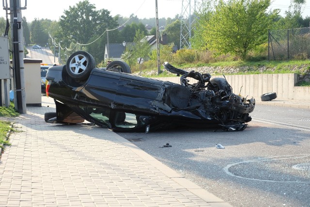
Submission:
MULTIPOLYGON (((212 76, 212 78, 223 76, 212 76)), ((233 93, 241 96, 253 96, 260 100, 262 94, 276 92, 277 99, 310 100, 310 87, 294 86, 297 83, 297 74, 255 74, 255 75, 227 75, 228 83, 233 88, 233 93)), ((156 78, 159 80, 180 83, 180 77, 156 78)), ((196 82, 189 79, 189 83, 196 82)))

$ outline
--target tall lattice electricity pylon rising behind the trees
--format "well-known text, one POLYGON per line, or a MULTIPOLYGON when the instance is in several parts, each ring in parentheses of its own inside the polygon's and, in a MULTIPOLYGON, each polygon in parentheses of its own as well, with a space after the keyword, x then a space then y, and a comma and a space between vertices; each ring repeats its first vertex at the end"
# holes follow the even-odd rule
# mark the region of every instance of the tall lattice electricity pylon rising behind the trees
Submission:
POLYGON ((204 0, 182 0, 180 48, 191 48, 190 38, 204 0))

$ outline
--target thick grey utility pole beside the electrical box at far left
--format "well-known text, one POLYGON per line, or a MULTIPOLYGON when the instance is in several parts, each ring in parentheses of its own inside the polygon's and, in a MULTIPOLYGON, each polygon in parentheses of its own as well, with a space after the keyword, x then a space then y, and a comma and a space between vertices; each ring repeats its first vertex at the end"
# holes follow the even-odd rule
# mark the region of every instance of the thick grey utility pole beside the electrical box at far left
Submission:
MULTIPOLYGON (((25 0, 25 2, 27 2, 25 0)), ((13 80, 14 80, 14 104, 19 113, 26 113, 26 92, 24 76, 24 42, 20 0, 10 0, 10 21, 13 49, 13 80)))

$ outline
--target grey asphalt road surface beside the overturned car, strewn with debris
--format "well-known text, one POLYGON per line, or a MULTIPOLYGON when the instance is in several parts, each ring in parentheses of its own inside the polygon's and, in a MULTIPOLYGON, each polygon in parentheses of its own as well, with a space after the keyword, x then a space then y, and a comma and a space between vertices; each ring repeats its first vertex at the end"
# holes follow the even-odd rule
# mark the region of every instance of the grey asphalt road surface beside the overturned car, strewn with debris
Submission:
POLYGON ((118 134, 235 207, 309 207, 310 110, 257 105, 251 117, 240 132, 118 134))

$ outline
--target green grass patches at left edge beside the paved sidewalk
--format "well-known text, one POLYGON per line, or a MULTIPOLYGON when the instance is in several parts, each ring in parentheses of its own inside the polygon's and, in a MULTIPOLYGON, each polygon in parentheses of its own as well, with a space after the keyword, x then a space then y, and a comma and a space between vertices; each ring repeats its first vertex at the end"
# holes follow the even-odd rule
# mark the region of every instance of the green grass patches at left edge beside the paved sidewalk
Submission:
MULTIPOLYGON (((16 117, 19 113, 14 109, 14 103, 11 102, 9 107, 0 107, 0 117, 16 117)), ((0 121, 0 147, 3 148, 4 145, 10 145, 10 142, 6 140, 6 134, 12 129, 11 122, 0 121)))

